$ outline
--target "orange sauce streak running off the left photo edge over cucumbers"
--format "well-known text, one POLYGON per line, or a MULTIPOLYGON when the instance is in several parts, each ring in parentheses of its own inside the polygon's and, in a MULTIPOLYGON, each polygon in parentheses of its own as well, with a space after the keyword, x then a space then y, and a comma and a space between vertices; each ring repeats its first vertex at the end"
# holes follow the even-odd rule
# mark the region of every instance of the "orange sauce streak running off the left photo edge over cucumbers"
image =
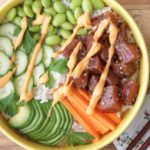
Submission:
POLYGON ((4 87, 7 84, 7 82, 11 79, 15 71, 16 68, 14 68, 12 71, 9 71, 4 77, 0 78, 0 88, 4 87))

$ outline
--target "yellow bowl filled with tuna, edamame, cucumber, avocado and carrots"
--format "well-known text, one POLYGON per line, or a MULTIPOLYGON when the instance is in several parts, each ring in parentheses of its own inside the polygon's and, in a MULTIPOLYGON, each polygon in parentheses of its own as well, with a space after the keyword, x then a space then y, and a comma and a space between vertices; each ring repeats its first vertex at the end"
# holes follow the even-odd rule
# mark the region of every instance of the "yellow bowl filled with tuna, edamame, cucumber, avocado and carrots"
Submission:
POLYGON ((94 150, 147 93, 144 38, 115 0, 9 0, 0 8, 0 131, 25 149, 94 150))

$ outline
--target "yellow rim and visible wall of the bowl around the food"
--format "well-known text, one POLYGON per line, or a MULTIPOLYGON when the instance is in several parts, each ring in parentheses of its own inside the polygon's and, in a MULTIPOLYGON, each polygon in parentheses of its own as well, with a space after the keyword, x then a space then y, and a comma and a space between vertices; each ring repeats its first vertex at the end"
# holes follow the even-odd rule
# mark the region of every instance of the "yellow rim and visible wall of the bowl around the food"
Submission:
MULTIPOLYGON (((5 5, 3 5, 0 8, 0 22, 5 17, 7 11, 21 3, 23 0, 10 0, 5 5)), ((15 143, 19 144, 20 146, 24 147, 25 149, 29 150, 95 150, 100 149, 109 143, 111 143, 114 139, 116 139, 122 132, 125 131, 125 129, 129 126, 129 124, 132 122, 132 120, 135 118, 136 114, 138 113, 140 107, 142 106, 142 103, 144 101, 147 89, 148 89, 148 83, 149 83, 149 59, 148 59, 148 52, 146 48, 146 44, 144 41, 144 38, 133 20, 133 18, 128 14, 128 12, 115 0, 104 0, 106 5, 110 6, 115 10, 129 25, 131 28, 133 35, 136 39, 136 42, 138 46, 141 49, 142 52, 142 59, 140 63, 140 90, 139 94, 136 100, 136 103, 132 107, 132 109, 127 113, 127 115, 122 120, 121 124, 117 127, 117 129, 104 136, 98 143, 89 144, 86 146, 76 146, 76 147, 63 147, 63 148, 54 148, 54 147, 47 147, 43 146, 37 143, 34 143, 28 139, 25 139, 23 136, 20 136, 19 134, 15 133, 7 124, 5 120, 3 120, 0 117, 0 130, 8 136, 11 140, 13 140, 15 143)))

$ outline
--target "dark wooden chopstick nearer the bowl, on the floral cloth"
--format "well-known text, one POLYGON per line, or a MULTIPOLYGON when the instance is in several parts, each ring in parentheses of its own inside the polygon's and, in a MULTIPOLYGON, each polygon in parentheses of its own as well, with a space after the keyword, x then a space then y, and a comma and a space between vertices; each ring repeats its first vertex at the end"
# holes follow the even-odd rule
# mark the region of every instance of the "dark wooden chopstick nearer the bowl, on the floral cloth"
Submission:
POLYGON ((150 129, 150 121, 146 123, 144 128, 138 133, 138 135, 135 137, 135 139, 131 142, 127 150, 132 150, 134 146, 139 142, 139 140, 144 136, 144 134, 150 129))

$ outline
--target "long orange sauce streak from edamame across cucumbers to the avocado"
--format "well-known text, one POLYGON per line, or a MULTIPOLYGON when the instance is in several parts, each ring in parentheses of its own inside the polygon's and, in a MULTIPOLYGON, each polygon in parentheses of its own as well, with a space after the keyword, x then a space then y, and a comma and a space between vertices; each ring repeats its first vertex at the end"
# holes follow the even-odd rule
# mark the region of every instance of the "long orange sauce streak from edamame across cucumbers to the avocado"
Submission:
POLYGON ((24 82, 24 85, 23 85, 23 90, 22 90, 22 93, 21 93, 20 100, 24 100, 24 101, 28 102, 28 101, 32 100, 32 98, 33 98, 34 90, 28 92, 27 91, 28 90, 28 85, 29 85, 30 80, 31 80, 31 76, 32 76, 33 69, 34 69, 34 66, 35 66, 36 58, 39 54, 39 51, 42 47, 45 36, 48 32, 48 26, 49 26, 50 21, 51 21, 51 17, 46 17, 44 22, 43 22, 40 40, 34 48, 32 58, 31 58, 31 60, 29 62, 29 65, 27 67, 25 82, 24 82))

